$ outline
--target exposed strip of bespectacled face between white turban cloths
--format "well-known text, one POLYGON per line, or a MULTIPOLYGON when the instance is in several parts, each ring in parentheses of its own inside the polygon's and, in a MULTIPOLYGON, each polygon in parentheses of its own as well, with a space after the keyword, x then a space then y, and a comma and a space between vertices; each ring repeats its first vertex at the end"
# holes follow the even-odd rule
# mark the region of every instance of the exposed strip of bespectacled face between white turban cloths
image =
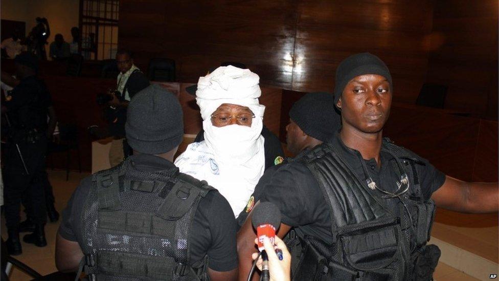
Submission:
POLYGON ((222 103, 211 115, 211 123, 215 127, 241 125, 251 127, 255 115, 246 106, 222 103))

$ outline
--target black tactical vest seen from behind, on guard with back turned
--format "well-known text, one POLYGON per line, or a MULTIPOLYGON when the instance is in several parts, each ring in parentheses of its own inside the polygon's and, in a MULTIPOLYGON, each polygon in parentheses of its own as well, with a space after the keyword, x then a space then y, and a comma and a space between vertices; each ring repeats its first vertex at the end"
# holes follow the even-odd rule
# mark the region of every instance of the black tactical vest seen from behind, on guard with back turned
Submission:
POLYGON ((177 168, 144 172, 130 159, 93 175, 80 263, 90 280, 205 280, 207 257, 190 266, 199 201, 212 190, 177 168))

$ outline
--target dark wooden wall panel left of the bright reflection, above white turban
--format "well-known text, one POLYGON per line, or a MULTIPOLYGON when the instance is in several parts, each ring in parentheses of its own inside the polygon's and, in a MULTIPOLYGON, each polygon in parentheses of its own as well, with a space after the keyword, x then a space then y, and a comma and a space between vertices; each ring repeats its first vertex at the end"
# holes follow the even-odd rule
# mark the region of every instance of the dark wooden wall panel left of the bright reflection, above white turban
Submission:
POLYGON ((196 82, 223 61, 254 70, 262 83, 284 87, 282 68, 294 47, 293 1, 121 1, 120 45, 136 51, 146 67, 151 57, 173 58, 177 80, 196 82))

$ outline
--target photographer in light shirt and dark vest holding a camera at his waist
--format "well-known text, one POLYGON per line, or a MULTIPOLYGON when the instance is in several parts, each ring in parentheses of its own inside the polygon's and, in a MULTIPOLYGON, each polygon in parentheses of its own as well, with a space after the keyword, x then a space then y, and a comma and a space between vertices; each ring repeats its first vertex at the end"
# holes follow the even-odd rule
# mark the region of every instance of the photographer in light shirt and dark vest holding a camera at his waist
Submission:
MULTIPOLYGON (((131 52, 119 50, 116 53, 116 63, 120 74, 118 74, 116 91, 110 95, 106 109, 106 118, 109 122, 109 133, 113 136, 109 150, 109 164, 114 167, 123 161, 123 143, 125 141, 126 109, 130 99, 149 85, 149 80, 133 64, 131 52)), ((127 146, 127 145, 126 145, 127 146)))

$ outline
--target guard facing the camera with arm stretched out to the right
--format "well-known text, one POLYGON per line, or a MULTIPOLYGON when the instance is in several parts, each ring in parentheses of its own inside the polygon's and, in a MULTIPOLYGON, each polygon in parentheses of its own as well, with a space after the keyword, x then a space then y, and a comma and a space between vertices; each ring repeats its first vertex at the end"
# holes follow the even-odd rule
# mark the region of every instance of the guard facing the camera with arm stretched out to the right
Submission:
MULTIPOLYGON (((259 182, 260 201, 281 209, 278 235, 289 232, 293 279, 430 280, 440 256, 438 247, 426 245, 435 206, 469 213, 499 209, 497 183, 445 176, 382 138, 392 91, 390 72, 378 57, 346 58, 334 91, 341 131, 259 182)), ((250 214, 238 232, 241 276, 251 266, 254 238, 250 214)))

